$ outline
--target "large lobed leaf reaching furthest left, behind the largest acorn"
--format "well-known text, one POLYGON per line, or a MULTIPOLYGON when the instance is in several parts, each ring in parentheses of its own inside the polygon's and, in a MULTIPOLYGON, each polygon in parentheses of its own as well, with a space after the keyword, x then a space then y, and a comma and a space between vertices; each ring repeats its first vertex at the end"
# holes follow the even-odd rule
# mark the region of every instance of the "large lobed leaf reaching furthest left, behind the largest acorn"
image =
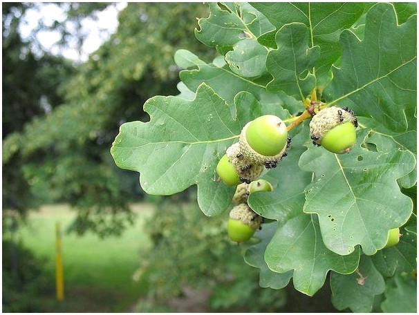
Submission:
POLYGON ((120 127, 111 148, 115 163, 138 171, 142 188, 150 194, 171 195, 198 185, 198 203, 207 216, 225 211, 234 193, 215 172, 225 149, 254 117, 285 113, 280 106, 261 106, 247 92, 229 105, 206 84, 198 87, 193 100, 157 96, 144 110, 150 122, 120 127))

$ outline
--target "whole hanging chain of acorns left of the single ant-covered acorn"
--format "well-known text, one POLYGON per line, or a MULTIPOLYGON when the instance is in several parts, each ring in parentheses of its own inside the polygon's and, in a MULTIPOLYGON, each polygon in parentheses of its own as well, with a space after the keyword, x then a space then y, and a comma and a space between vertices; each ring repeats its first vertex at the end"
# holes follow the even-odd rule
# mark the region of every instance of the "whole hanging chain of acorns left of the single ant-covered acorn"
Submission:
POLYGON ((230 211, 227 233, 234 242, 245 242, 261 228, 263 218, 248 206, 248 195, 254 191, 272 191, 266 180, 257 180, 264 169, 277 167, 290 146, 288 129, 281 118, 263 115, 245 124, 239 142, 232 144, 216 166, 220 179, 237 186, 230 211))

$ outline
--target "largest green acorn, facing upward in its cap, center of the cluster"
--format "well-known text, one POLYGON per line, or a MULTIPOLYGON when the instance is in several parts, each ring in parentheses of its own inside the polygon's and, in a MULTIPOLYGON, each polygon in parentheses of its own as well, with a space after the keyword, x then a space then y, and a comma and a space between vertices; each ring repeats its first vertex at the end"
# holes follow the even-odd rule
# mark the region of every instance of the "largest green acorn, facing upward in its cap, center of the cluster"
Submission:
POLYGON ((270 169, 286 155, 289 141, 288 129, 281 118, 263 115, 245 124, 239 144, 246 159, 270 169))

